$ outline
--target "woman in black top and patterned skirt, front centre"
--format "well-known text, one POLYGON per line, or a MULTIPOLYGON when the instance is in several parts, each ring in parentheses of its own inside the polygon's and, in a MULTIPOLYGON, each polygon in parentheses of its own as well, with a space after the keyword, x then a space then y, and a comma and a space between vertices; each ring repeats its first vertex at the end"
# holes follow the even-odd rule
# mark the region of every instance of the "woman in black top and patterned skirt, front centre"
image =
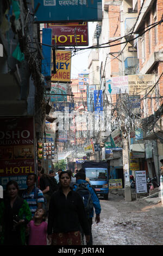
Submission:
POLYGON ((82 198, 70 187, 67 171, 59 176, 59 190, 53 193, 49 204, 48 239, 52 245, 82 245, 80 225, 89 241, 89 227, 82 198))

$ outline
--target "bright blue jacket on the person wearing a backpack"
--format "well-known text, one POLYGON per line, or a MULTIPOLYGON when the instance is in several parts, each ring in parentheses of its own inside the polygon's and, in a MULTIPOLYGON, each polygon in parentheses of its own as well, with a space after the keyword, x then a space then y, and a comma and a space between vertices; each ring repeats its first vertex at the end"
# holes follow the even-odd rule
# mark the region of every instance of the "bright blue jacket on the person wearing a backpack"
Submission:
MULTIPOLYGON (((95 213, 100 214, 101 213, 101 205, 99 203, 99 199, 96 196, 95 191, 93 190, 92 187, 90 187, 90 184, 86 180, 77 180, 77 184, 81 184, 81 183, 87 183, 87 188, 89 188, 89 191, 91 193, 91 198, 93 201, 93 206, 95 208, 95 213)), ((76 191, 76 189, 77 189, 77 185, 74 184, 73 190, 76 191)), ((90 218, 92 218, 92 217, 93 217, 93 211, 92 211, 92 214, 90 214, 90 218)))

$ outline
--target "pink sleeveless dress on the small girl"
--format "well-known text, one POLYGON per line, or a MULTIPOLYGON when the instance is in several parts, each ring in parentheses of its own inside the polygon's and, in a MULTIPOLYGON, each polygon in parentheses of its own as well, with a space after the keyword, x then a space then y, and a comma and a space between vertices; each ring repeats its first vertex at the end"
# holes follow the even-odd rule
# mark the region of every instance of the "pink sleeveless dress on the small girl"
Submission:
POLYGON ((30 228, 28 245, 47 245, 47 222, 35 225, 34 221, 28 223, 30 228))

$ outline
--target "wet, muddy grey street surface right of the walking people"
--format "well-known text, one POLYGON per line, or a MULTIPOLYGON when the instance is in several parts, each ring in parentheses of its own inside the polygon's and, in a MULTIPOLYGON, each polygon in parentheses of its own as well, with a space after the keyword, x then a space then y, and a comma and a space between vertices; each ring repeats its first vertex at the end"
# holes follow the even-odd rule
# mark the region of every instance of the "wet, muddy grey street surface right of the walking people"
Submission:
POLYGON ((163 245, 163 206, 157 200, 100 200, 101 222, 93 221, 93 245, 163 245))

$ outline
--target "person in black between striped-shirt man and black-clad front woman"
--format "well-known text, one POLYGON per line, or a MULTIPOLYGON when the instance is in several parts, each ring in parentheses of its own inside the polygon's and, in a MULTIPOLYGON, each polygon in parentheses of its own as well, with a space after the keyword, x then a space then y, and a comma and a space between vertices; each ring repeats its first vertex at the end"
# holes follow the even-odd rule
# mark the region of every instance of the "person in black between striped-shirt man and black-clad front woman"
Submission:
POLYGON ((48 212, 49 209, 49 201, 51 199, 51 192, 50 192, 50 183, 47 178, 47 175, 41 172, 40 170, 37 171, 38 176, 40 177, 40 190, 43 193, 43 196, 46 200, 46 210, 48 212))

